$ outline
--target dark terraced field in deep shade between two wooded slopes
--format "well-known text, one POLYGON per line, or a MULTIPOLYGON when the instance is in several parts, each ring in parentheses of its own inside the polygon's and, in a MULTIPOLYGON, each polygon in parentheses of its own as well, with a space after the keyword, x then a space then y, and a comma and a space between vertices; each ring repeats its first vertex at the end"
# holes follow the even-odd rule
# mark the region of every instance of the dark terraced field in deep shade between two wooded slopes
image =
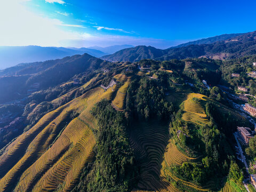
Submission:
POLYGON ((179 191, 161 175, 169 139, 167 129, 168 126, 159 123, 137 123, 130 134, 135 156, 142 162, 139 183, 134 191, 179 191))

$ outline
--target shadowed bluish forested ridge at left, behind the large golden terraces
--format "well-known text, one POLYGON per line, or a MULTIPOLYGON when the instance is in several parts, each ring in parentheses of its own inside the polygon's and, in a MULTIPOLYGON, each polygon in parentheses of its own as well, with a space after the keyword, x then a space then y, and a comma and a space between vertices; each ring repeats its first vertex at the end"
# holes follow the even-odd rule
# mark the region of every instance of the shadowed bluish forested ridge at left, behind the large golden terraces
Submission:
POLYGON ((33 89, 34 83, 39 83, 39 89, 47 89, 68 81, 82 71, 95 70, 106 63, 106 61, 85 53, 2 70, 0 73, 3 76, 0 77, 0 102, 20 98, 20 95, 27 94, 28 90, 33 89), (13 84, 16 81, 17 84, 13 84))

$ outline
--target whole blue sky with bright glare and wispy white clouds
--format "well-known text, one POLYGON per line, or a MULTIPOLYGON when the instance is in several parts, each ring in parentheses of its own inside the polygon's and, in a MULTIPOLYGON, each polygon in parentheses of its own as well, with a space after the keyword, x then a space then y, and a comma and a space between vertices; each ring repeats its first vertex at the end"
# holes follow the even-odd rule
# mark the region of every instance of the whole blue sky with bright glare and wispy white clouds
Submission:
POLYGON ((0 46, 150 45, 256 30, 256 1, 1 0, 0 46))

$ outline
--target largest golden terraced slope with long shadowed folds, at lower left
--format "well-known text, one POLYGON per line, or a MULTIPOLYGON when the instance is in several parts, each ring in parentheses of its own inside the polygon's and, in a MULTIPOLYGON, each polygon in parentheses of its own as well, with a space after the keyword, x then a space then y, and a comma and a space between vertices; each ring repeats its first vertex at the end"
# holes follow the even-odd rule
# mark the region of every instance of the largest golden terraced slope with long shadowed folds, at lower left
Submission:
POLYGON ((86 92, 12 142, 0 157, 0 191, 12 190, 15 183, 15 191, 70 191, 94 156, 92 129, 97 124, 90 110, 103 99, 102 93, 100 87, 86 92), (68 123, 72 111, 81 114, 68 123))

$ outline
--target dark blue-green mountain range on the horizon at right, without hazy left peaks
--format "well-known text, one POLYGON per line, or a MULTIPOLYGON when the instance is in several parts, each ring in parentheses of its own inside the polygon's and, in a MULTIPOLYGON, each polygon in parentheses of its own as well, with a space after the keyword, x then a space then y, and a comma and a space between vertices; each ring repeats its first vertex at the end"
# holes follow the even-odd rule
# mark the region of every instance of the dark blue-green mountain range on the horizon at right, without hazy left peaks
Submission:
POLYGON ((206 57, 211 59, 232 59, 256 54, 256 31, 245 34, 230 34, 210 37, 200 41, 161 50, 151 46, 136 46, 105 55, 108 61, 130 61, 141 59, 170 60, 206 57), (232 36, 230 38, 230 36, 232 36), (221 41, 218 41, 221 39, 221 41), (215 41, 215 42, 214 42, 215 41), (214 43, 212 43, 214 42, 214 43), (202 44, 204 43, 204 44, 202 44))

